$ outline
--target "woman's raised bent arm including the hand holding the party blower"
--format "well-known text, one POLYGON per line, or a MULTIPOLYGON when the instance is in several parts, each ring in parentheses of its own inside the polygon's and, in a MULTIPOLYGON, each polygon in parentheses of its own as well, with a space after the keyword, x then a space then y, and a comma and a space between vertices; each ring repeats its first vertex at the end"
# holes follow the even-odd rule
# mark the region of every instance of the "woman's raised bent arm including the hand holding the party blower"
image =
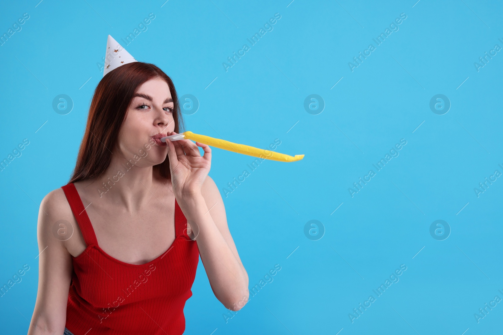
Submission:
POLYGON ((173 192, 194 230, 189 236, 197 241, 211 289, 227 309, 239 310, 248 301, 248 275, 230 236, 220 192, 208 176, 211 148, 191 140, 168 140, 166 145, 173 192))

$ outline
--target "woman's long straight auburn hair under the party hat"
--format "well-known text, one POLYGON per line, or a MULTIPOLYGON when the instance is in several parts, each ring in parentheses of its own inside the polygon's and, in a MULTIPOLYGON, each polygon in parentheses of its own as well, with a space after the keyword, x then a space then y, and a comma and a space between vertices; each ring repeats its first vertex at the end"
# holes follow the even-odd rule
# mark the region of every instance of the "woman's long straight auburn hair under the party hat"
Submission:
MULTIPOLYGON (((185 131, 175 85, 169 76, 154 64, 132 62, 107 73, 98 83, 89 108, 86 132, 80 143, 75 168, 68 183, 100 176, 112 161, 112 148, 117 145, 119 130, 136 89, 145 81, 160 78, 170 87, 173 98, 175 132, 185 131)), ((171 179, 170 161, 153 166, 159 175, 171 179)))

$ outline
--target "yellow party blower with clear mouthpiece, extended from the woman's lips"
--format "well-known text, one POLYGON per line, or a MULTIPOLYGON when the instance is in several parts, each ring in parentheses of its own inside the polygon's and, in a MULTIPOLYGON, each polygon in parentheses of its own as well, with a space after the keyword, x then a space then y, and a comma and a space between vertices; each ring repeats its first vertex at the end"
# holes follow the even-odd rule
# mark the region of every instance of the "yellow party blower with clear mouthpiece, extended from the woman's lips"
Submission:
POLYGON ((270 160, 279 161, 279 162, 295 162, 295 161, 300 161, 302 158, 304 158, 304 155, 295 155, 295 157, 289 156, 289 155, 280 154, 278 152, 274 152, 274 151, 270 151, 270 150, 259 149, 259 148, 250 147, 250 146, 247 146, 244 144, 232 143, 229 141, 215 139, 213 137, 209 137, 209 136, 205 136, 205 135, 194 134, 193 132, 184 132, 184 133, 180 133, 180 134, 166 136, 166 137, 162 137, 160 140, 162 142, 166 142, 167 139, 170 139, 171 141, 193 140, 196 142, 200 142, 200 143, 209 145, 211 147, 216 147, 216 148, 220 148, 220 149, 224 149, 224 150, 228 150, 228 151, 232 151, 232 152, 237 152, 238 154, 260 157, 260 158, 270 159, 270 160))

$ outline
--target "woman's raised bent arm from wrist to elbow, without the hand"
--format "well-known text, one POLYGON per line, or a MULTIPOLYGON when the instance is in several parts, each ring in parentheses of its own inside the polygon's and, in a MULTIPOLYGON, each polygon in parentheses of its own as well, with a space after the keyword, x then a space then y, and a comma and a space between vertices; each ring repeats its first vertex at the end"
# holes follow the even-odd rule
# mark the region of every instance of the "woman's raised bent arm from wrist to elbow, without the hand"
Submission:
POLYGON ((181 199, 179 203, 196 237, 215 297, 227 309, 241 309, 248 301, 248 275, 230 235, 218 187, 207 176, 201 194, 181 199))

